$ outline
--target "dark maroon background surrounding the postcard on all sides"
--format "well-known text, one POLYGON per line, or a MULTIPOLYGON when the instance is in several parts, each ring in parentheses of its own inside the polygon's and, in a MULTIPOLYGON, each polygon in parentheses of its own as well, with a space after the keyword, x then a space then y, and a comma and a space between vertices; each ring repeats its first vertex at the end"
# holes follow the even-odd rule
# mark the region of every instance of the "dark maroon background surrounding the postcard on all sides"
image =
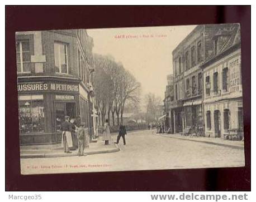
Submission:
POLYGON ((250 191, 250 22, 250 6, 6 6, 6 190, 250 191), (16 31, 211 23, 241 24, 245 167, 20 174, 16 31))

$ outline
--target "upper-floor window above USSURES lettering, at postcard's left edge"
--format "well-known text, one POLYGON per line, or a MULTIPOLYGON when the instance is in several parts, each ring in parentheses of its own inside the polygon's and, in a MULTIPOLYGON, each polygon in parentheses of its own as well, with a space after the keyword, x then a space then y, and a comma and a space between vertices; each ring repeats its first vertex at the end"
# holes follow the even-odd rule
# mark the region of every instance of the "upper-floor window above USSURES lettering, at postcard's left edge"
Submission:
POLYGON ((31 52, 29 40, 16 43, 17 72, 31 72, 31 52))

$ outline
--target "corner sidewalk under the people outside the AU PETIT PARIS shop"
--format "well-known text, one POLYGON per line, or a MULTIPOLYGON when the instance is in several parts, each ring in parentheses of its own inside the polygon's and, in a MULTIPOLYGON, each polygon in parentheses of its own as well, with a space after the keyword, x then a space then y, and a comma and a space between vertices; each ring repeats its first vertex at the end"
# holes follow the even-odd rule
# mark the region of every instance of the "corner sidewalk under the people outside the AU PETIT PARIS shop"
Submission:
MULTIPOLYGON (((32 145, 32 146, 21 146, 21 158, 48 158, 48 157, 66 157, 66 156, 77 156, 78 150, 71 150, 72 153, 64 153, 61 144, 56 145, 32 145)), ((103 154, 120 151, 118 145, 113 144, 104 145, 104 142, 99 140, 89 144, 89 148, 84 149, 84 154, 103 154)))

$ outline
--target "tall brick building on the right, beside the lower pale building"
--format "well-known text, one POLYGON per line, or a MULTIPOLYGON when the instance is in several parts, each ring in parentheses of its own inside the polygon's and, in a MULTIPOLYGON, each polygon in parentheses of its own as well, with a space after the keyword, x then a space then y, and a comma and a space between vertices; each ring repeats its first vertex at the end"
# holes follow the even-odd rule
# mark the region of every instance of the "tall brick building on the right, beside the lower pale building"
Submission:
MULTIPOLYGON (((233 24, 206 24, 193 29, 172 52, 174 72, 174 132, 204 127, 201 65, 215 55, 214 37, 233 24)), ((221 38, 219 45, 224 44, 221 38)))

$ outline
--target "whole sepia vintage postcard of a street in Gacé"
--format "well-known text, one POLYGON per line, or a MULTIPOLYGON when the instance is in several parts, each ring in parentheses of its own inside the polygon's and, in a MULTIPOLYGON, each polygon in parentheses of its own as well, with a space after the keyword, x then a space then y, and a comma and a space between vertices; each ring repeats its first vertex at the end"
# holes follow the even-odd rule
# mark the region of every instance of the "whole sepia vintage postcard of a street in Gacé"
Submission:
POLYGON ((16 32, 21 174, 243 167, 240 24, 16 32))

